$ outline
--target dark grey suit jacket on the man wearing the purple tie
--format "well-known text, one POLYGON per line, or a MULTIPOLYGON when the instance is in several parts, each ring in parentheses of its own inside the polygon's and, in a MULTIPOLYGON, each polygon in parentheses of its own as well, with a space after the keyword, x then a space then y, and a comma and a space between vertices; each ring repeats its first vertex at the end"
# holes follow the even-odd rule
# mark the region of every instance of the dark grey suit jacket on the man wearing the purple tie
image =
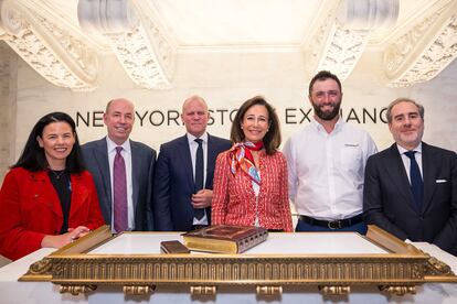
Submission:
MULTIPOLYGON (((156 166, 156 151, 148 145, 130 140, 131 181, 135 210, 135 230, 153 230, 152 178, 156 166)), ((111 225, 111 183, 109 176, 108 148, 106 138, 82 145, 84 162, 94 176, 103 217, 111 225)))

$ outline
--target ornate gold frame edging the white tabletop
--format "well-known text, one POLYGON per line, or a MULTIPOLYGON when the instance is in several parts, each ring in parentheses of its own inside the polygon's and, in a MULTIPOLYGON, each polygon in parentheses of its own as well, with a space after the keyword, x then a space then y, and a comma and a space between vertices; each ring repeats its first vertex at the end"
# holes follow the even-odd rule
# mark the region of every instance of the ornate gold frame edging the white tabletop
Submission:
POLYGON ((445 263, 384 230, 369 226, 366 238, 385 254, 87 254, 113 238, 108 226, 33 263, 20 281, 50 281, 62 293, 97 285, 123 286, 125 294, 153 292, 156 285, 189 285, 194 295, 213 295, 221 285, 253 285, 259 295, 285 285, 316 285, 322 294, 348 294, 354 285, 376 285, 404 295, 426 282, 457 282, 445 263))

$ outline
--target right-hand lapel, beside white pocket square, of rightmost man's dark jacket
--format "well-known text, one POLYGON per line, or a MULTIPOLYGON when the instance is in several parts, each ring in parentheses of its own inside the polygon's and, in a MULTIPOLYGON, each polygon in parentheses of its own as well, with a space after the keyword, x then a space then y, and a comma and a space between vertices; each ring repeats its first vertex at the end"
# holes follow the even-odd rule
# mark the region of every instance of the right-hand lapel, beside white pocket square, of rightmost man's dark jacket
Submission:
POLYGON ((422 143, 422 178, 424 181, 424 202, 422 211, 426 210, 436 189, 436 176, 439 167, 426 143, 422 143))

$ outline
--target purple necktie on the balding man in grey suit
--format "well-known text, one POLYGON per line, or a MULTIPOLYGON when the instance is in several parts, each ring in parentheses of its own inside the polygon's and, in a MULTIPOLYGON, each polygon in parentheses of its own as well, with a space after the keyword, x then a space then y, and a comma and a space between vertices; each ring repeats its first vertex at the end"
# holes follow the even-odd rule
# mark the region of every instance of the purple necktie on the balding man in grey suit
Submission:
POLYGON ((128 228, 126 163, 120 151, 123 151, 123 146, 116 146, 113 166, 114 228, 118 234, 128 228))

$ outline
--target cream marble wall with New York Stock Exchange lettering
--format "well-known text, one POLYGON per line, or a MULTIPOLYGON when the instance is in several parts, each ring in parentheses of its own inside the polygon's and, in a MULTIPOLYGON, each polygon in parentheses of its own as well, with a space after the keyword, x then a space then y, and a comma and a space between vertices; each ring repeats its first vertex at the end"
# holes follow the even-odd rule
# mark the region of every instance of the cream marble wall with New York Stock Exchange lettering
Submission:
MULTIPOLYGON (((389 88, 384 85, 382 70, 373 69, 373 61, 379 59, 380 56, 368 53, 343 83, 343 117, 366 129, 379 149, 384 149, 392 143, 392 137, 383 122, 382 109, 400 96, 415 98, 426 109, 424 140, 457 151, 457 129, 454 127, 457 113, 457 91, 454 89, 457 84, 457 62, 426 84, 389 88)), ((310 105, 307 100, 309 79, 305 76, 306 58, 299 52, 181 53, 173 76, 173 88, 170 90, 137 88, 116 57, 105 56, 99 61, 102 68, 98 88, 91 93, 75 93, 49 84, 26 63, 18 59, 17 77, 14 73, 8 77, 17 80, 13 98, 17 111, 12 111, 14 105, 7 105, 15 115, 10 120, 7 119, 7 123, 1 122, 0 133, 2 139, 11 137, 9 142, 13 146, 10 149, 13 155, 2 154, 2 160, 10 163, 17 160, 32 126, 50 111, 66 111, 74 118, 78 117, 81 142, 104 137, 102 111, 107 100, 120 96, 134 100, 138 112, 131 138, 144 141, 156 150, 159 150, 160 143, 184 133, 178 112, 182 101, 193 94, 204 97, 213 109, 214 122, 209 131, 221 137, 228 137, 230 111, 255 95, 265 96, 276 107, 281 120, 284 141, 298 131, 300 124, 307 124, 307 116, 311 116, 308 113, 310 105), (85 121, 91 121, 89 126, 85 121)), ((1 66, 4 62, 4 56, 0 56, 1 66)), ((7 82, 3 74, 2 87, 7 82)), ((4 99, 2 94, 2 105, 4 99)), ((0 115, 1 118, 8 118, 4 112, 0 115)), ((1 149, 3 153, 4 146, 1 149)), ((3 161, 0 166, 0 172, 4 172, 8 165, 3 161)))

